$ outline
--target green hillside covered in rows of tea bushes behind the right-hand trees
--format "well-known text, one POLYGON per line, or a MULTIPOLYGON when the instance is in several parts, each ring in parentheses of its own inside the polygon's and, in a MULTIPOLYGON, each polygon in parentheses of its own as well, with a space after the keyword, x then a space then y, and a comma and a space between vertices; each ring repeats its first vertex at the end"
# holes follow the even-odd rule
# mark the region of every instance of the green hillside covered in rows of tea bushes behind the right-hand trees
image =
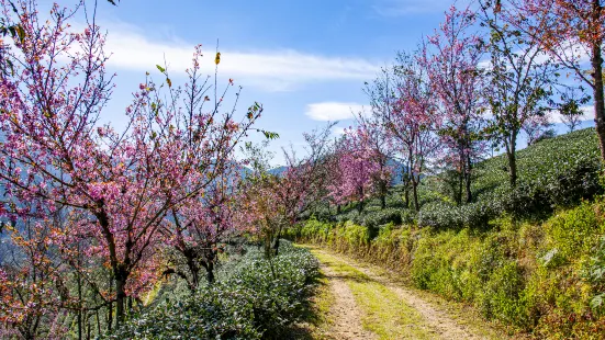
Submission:
POLYGON ((456 205, 453 181, 448 172, 442 172, 423 180, 418 189, 418 214, 405 207, 401 185, 390 191, 385 209, 380 209, 380 201, 373 199, 366 203, 362 214, 355 204, 345 206, 339 215, 326 206, 318 206, 311 214, 321 220, 352 220, 371 228, 411 220, 435 228, 486 228, 490 219, 502 214, 545 218, 557 207, 573 206, 603 191, 597 175, 598 157, 594 128, 585 128, 518 151, 516 190, 509 190, 504 155, 477 163, 471 204, 456 205))

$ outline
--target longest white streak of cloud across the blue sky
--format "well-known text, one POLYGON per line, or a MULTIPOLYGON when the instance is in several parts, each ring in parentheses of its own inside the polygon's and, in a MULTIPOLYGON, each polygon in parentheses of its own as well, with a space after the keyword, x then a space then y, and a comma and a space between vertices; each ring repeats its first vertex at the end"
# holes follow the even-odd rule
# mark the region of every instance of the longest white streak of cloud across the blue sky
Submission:
MULTIPOLYGON (((191 66, 193 43, 154 39, 130 25, 109 25, 107 49, 112 52, 109 66, 127 70, 153 70, 164 64, 183 73, 191 66), (117 27, 112 30, 113 26, 117 27)), ((206 49, 202 68, 214 70, 214 50, 206 49)), ((238 83, 267 91, 287 91, 317 81, 367 80, 376 77, 379 66, 362 58, 327 57, 294 49, 221 50, 220 73, 238 83)))

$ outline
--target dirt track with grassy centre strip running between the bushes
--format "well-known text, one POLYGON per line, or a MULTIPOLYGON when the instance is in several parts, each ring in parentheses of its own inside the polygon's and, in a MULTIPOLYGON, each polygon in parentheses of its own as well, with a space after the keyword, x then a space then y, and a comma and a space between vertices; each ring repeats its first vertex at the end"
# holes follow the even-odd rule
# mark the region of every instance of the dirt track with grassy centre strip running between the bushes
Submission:
MULTIPOLYGON (((309 247, 330 292, 322 339, 502 339, 489 327, 428 302, 378 270, 309 247)), ((477 320, 474 320, 477 321, 477 320)))

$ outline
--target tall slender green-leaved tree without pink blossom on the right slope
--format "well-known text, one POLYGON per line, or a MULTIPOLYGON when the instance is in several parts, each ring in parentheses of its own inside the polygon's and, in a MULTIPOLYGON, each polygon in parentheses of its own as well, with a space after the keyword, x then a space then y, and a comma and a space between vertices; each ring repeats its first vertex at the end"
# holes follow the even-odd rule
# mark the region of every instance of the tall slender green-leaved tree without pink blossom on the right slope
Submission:
MULTIPOLYGON (((492 121, 488 134, 504 145, 508 161, 509 183, 517 185, 517 138, 524 126, 544 121, 550 109, 559 65, 546 55, 541 44, 528 39, 507 24, 514 12, 491 1, 480 1, 482 25, 490 30, 489 87, 485 95, 492 121), (502 19, 504 18, 504 19, 502 19)), ((522 19, 518 19, 519 21, 522 19)), ((530 134, 529 139, 535 138, 530 134)))

